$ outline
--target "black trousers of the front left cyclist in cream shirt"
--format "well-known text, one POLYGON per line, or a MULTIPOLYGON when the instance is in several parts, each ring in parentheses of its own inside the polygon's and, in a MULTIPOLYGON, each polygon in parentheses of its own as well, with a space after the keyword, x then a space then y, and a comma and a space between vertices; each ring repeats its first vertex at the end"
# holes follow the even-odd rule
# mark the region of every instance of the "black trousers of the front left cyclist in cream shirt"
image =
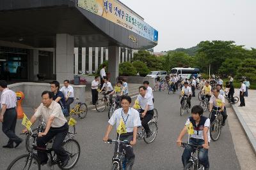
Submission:
MULTIPOLYGON (((67 159, 68 154, 61 145, 65 139, 65 136, 67 136, 67 133, 67 123, 65 123, 62 127, 51 127, 45 136, 36 138, 37 147, 45 148, 46 144, 55 136, 52 144, 52 150, 54 150, 58 158, 61 160, 61 162, 63 162, 67 159)), ((45 153, 44 150, 38 150, 37 154, 41 162, 47 161, 47 153, 45 153)))

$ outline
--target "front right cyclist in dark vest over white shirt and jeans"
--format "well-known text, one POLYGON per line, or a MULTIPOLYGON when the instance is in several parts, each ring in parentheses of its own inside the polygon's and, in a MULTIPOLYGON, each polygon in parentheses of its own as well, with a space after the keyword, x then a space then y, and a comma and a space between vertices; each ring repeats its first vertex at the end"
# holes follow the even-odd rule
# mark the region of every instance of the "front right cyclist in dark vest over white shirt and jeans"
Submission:
MULTIPOLYGON (((201 106, 193 106, 191 110, 192 116, 188 118, 186 121, 184 129, 180 132, 179 137, 177 139, 177 145, 181 146, 182 138, 188 131, 189 124, 193 125, 194 134, 191 135, 189 139, 189 144, 191 145, 202 145, 203 148, 199 149, 198 159, 200 164, 204 166, 205 170, 209 170, 209 158, 208 158, 208 149, 210 138, 210 120, 207 117, 203 117, 204 110, 201 106)), ((188 160, 191 157, 191 153, 195 150, 195 148, 191 146, 186 146, 183 154, 182 154, 182 163, 183 166, 186 167, 188 164, 188 160)))

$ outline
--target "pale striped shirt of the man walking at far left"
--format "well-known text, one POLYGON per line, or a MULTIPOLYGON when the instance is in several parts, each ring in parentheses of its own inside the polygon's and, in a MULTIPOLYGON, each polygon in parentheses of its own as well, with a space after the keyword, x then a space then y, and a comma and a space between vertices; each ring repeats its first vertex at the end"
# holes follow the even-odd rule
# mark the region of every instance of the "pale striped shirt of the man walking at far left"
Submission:
POLYGON ((17 103, 17 96, 13 90, 8 88, 4 89, 1 94, 1 107, 3 108, 3 104, 6 104, 6 108, 15 108, 17 103))

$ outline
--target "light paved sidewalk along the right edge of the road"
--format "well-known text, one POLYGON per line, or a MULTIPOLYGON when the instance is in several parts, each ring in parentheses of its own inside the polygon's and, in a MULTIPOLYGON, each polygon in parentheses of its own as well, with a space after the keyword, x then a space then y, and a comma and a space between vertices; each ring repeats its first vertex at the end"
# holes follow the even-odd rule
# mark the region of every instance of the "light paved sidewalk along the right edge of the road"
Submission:
MULTIPOLYGON (((239 89, 235 89, 234 96, 239 97, 239 89)), ((240 101, 237 104, 232 105, 237 118, 242 125, 246 136, 252 145, 253 152, 256 154, 256 90, 248 90, 248 96, 244 97, 245 107, 238 107, 240 101)))

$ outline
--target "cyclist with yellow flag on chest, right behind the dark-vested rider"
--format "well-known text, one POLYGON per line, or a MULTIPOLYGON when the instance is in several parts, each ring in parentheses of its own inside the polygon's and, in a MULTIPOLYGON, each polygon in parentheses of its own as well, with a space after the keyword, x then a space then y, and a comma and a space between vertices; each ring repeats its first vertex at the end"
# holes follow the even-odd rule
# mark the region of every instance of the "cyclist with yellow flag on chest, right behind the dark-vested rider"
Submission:
MULTIPOLYGON (((225 108, 225 97, 220 94, 220 90, 218 90, 218 89, 213 89, 212 92, 213 92, 213 95, 209 101, 209 103, 210 103, 209 111, 210 111, 210 113, 211 113, 212 109, 220 111, 221 115, 223 116, 222 125, 224 126, 225 120, 228 117, 227 111, 225 108)), ((215 120, 215 111, 214 111, 214 114, 211 114, 210 120, 211 120, 211 123, 215 120)))

